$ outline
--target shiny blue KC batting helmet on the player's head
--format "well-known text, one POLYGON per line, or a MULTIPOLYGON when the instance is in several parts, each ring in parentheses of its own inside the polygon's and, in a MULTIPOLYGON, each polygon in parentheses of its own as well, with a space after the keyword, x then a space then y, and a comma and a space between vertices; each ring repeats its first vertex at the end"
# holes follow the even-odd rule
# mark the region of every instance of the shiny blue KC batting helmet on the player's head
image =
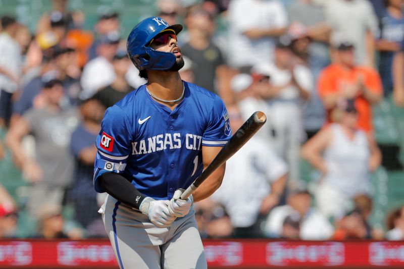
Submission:
POLYGON ((160 32, 171 29, 178 34, 182 30, 181 24, 168 25, 159 17, 149 17, 139 22, 128 36, 126 50, 130 60, 138 70, 168 70, 175 61, 174 53, 157 51, 146 46, 160 32))

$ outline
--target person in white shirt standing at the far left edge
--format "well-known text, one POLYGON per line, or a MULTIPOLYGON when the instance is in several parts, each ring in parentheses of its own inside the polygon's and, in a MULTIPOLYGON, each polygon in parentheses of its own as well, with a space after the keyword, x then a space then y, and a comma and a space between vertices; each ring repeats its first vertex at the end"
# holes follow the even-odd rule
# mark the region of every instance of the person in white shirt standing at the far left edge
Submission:
POLYGON ((21 48, 15 40, 18 24, 14 17, 2 17, 0 33, 0 127, 7 126, 12 112, 11 97, 21 72, 21 48))

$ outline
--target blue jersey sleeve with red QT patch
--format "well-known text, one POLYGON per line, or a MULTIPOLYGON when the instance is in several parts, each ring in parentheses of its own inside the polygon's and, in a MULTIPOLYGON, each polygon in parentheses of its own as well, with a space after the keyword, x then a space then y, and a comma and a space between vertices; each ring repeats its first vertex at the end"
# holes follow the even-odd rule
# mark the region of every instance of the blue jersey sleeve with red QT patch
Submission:
POLYGON ((107 109, 101 123, 101 130, 95 140, 97 154, 94 161, 94 188, 105 192, 97 178, 106 173, 122 173, 131 151, 132 132, 128 117, 121 107, 114 105, 107 109))

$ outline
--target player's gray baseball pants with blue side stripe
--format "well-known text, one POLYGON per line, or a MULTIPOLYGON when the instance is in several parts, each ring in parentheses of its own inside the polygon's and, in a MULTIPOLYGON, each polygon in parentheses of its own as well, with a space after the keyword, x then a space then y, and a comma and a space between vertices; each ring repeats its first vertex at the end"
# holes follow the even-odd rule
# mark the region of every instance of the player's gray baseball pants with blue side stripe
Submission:
POLYGON ((110 195, 99 212, 121 269, 208 267, 193 207, 168 228, 156 227, 140 211, 110 195))

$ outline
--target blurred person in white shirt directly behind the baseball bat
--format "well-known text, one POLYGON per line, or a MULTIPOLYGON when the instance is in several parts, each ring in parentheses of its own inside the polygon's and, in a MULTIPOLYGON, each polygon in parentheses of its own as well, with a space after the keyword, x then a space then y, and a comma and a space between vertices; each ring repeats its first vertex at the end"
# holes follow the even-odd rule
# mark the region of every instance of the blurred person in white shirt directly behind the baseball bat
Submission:
MULTIPOLYGON (((233 132, 242 125, 238 109, 229 107, 233 132)), ((268 142, 252 137, 226 162, 221 187, 212 199, 223 204, 236 237, 262 237, 261 221, 279 203, 287 167, 268 142)))

